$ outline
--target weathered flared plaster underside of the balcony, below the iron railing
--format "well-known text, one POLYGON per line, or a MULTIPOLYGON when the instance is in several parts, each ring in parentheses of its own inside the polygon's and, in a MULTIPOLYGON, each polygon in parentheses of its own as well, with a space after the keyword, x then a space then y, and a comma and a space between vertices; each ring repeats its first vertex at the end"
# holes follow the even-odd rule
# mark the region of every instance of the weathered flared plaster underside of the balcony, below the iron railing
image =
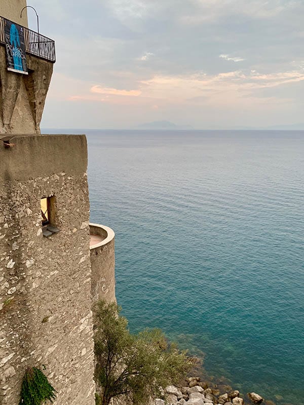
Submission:
POLYGON ((0 46, 0 134, 40 134, 53 63, 26 55, 28 75, 7 70, 0 46))

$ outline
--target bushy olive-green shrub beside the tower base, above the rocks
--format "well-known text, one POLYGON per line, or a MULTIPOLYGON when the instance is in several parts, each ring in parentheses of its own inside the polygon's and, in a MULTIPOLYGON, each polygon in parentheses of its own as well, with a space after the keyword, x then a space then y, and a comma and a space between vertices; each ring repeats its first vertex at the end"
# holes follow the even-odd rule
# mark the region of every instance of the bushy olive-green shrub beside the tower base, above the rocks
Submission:
MULTIPOLYGON (((144 405, 159 396, 160 387, 177 384, 193 367, 193 359, 168 343, 159 329, 132 335, 121 308, 99 301, 94 308, 95 378, 102 387, 102 405, 124 395, 144 405)), ((98 402, 97 402, 98 403, 98 402)))

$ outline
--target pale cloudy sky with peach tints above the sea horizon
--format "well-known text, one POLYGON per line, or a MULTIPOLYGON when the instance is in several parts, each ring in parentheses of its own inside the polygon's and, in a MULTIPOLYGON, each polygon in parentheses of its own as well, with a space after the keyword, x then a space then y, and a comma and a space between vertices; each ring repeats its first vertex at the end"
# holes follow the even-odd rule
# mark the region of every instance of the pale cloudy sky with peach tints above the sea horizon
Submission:
POLYGON ((303 0, 27 4, 56 41, 42 128, 304 122, 303 0))

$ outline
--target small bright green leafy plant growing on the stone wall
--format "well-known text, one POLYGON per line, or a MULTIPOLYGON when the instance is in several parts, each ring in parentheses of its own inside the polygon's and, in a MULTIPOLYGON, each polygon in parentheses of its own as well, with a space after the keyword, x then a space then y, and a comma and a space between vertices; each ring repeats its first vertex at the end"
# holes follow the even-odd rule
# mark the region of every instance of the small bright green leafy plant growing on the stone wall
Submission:
POLYGON ((19 405, 42 405, 47 400, 53 402, 55 397, 55 389, 40 369, 31 367, 25 371, 19 405))

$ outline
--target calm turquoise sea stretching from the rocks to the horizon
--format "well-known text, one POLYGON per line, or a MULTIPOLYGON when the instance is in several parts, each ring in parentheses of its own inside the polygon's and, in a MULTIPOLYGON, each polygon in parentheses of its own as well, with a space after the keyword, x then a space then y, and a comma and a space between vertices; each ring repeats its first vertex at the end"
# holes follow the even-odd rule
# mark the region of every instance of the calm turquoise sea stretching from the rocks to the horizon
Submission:
POLYGON ((91 220, 116 232, 132 331, 303 404, 304 132, 86 132, 91 220))

